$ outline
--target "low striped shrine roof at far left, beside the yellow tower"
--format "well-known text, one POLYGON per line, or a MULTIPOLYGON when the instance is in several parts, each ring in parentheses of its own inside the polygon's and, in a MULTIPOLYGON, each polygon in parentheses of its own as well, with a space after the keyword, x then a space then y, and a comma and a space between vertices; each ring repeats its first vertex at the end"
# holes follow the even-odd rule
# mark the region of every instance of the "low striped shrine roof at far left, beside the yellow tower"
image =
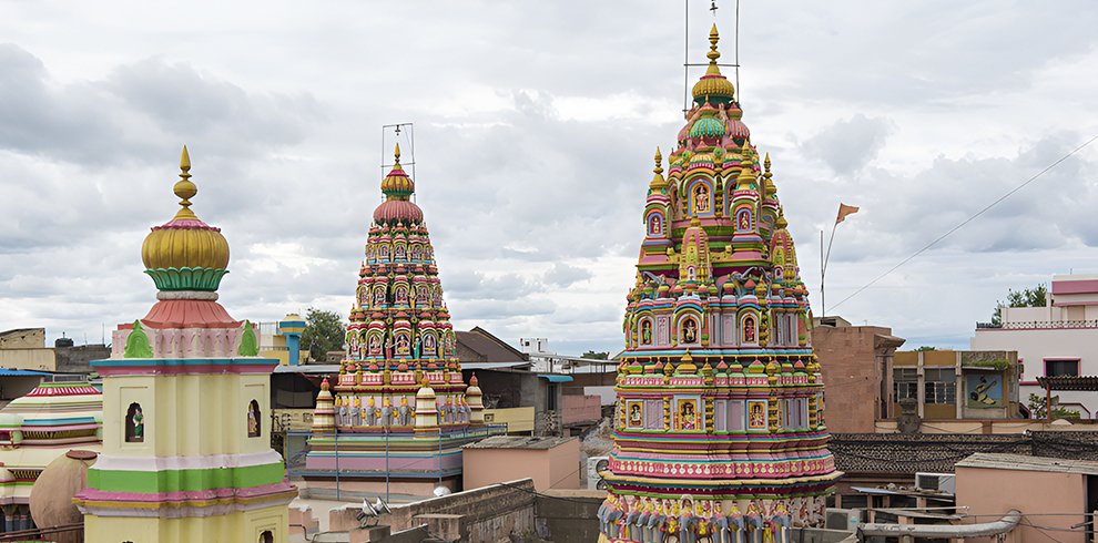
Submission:
POLYGON ((31 489, 50 462, 71 449, 102 450, 103 395, 69 378, 48 377, 0 409, 0 533, 34 527, 31 489))

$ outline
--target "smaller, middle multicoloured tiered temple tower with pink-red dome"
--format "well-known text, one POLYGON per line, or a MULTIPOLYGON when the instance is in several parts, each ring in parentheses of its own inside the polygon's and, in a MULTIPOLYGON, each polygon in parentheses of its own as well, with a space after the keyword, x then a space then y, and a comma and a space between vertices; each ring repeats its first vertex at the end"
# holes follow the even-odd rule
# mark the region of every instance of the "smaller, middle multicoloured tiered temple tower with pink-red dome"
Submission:
POLYGON ((343 489, 359 492, 460 490, 461 445, 488 433, 476 376, 468 387, 461 379, 435 252, 399 145, 382 192, 338 381, 322 382, 316 401, 305 463, 311 494, 334 488, 337 473, 343 489))

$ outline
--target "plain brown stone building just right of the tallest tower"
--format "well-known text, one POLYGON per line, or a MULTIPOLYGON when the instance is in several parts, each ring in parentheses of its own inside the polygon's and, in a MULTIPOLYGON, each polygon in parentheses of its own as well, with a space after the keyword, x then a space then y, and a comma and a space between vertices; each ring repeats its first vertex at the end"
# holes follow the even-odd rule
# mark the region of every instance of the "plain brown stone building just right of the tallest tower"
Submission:
POLYGON ((827 387, 832 433, 873 433, 888 417, 892 358, 903 338, 883 326, 852 326, 842 317, 815 319, 812 347, 827 387))

